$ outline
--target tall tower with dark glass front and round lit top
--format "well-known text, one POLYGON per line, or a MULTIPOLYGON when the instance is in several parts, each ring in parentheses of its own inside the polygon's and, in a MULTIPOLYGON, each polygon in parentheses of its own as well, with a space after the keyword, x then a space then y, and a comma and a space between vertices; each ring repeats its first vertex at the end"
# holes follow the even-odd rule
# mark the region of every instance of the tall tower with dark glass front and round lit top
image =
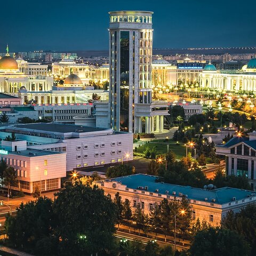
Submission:
POLYGON ((152 102, 153 29, 148 11, 109 12, 111 127, 127 132, 162 131, 166 102, 152 102))

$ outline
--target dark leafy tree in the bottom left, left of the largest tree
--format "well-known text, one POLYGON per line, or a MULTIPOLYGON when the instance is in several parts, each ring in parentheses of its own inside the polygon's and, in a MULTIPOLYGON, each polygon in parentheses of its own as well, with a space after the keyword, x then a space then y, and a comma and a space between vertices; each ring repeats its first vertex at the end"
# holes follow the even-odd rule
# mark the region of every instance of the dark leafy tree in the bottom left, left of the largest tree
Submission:
MULTIPOLYGON (((37 250, 37 243, 52 235, 52 230, 57 225, 55 217, 50 198, 40 197, 36 202, 21 203, 17 215, 15 217, 7 216, 5 221, 9 243, 18 249, 26 249, 34 253, 37 250)), ((52 237, 53 241, 55 241, 55 245, 58 239, 52 237)), ((40 246, 41 252, 37 255, 54 255, 53 252, 57 249, 57 246, 54 245, 53 243, 48 244, 47 248, 40 246)))

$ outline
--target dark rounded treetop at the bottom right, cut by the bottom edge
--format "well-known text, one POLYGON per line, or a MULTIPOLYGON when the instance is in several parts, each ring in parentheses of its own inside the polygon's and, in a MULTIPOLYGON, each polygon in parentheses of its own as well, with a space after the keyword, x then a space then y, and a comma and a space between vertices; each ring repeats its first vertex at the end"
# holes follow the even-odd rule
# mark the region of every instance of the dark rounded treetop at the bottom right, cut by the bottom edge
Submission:
POLYGON ((235 231, 210 227, 196 233, 189 252, 191 256, 248 256, 249 250, 235 231))

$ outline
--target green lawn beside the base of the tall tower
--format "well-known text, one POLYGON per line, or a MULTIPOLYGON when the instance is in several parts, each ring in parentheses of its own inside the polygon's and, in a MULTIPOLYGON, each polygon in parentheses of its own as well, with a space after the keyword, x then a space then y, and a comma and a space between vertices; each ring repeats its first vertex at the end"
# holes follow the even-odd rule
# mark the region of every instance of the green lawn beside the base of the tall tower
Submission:
POLYGON ((165 154, 167 153, 167 144, 169 144, 169 150, 174 151, 178 159, 186 156, 186 147, 183 144, 176 145, 176 142, 174 141, 165 142, 165 140, 154 140, 147 143, 143 147, 138 147, 137 153, 143 154, 143 151, 145 151, 146 147, 149 147, 150 149, 156 147, 157 155, 165 154))

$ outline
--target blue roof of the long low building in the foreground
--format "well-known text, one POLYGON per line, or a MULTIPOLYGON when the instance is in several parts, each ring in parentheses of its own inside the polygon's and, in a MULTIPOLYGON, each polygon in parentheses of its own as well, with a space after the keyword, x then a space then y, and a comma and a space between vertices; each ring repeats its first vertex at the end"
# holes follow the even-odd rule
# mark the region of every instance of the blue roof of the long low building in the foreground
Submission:
MULTIPOLYGON (((198 201, 205 201, 205 197, 208 198, 208 202, 212 202, 212 199, 215 199, 216 204, 225 204, 233 201, 233 197, 236 197, 236 200, 246 198, 247 195, 251 195, 253 191, 237 189, 237 188, 219 188, 213 190, 205 190, 201 188, 192 188, 190 186, 179 186, 168 183, 156 182, 158 177, 147 175, 147 174, 134 174, 125 177, 119 177, 110 179, 109 181, 122 182, 123 185, 126 185, 127 188, 138 189, 138 187, 148 186, 147 191, 155 192, 158 189, 158 194, 166 195, 166 190, 169 191, 169 194, 172 195, 172 191, 176 192, 176 196, 179 193, 188 195, 189 199, 194 199, 198 201)), ((106 180, 108 181, 108 180, 106 180)))

